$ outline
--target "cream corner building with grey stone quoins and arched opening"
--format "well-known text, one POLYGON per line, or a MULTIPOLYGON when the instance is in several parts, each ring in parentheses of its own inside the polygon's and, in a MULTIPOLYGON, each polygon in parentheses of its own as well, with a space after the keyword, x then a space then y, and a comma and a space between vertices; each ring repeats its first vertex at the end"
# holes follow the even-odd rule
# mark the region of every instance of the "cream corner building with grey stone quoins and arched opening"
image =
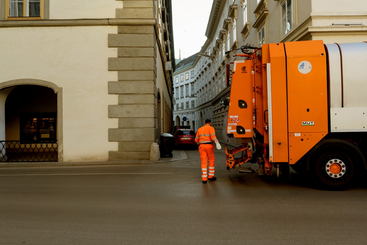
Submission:
POLYGON ((172 33, 171 0, 0 0, 1 161, 149 159, 172 129, 172 33))

